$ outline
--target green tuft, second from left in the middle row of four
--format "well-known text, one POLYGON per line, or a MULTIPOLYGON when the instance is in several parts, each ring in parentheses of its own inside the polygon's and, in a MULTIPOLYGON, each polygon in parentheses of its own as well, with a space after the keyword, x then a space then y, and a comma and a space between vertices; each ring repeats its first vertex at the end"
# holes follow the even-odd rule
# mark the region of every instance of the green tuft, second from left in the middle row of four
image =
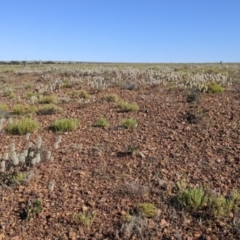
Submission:
POLYGON ((74 118, 57 119, 53 127, 57 132, 71 132, 78 127, 78 120, 74 118))

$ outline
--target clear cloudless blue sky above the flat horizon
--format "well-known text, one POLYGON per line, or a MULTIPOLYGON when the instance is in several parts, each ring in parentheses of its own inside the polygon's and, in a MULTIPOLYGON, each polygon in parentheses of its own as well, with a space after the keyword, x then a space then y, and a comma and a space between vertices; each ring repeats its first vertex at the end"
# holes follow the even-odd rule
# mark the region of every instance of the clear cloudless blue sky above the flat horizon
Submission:
POLYGON ((240 62, 240 0, 1 0, 11 60, 240 62))

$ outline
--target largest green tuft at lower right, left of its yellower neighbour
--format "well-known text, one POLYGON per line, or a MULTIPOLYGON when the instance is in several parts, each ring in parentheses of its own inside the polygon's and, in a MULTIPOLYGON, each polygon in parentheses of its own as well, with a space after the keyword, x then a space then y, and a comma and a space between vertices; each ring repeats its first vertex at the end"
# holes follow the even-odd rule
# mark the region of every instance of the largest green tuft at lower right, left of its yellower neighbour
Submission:
POLYGON ((201 188, 187 188, 180 191, 178 202, 188 210, 201 209, 207 203, 207 196, 205 191, 201 188))

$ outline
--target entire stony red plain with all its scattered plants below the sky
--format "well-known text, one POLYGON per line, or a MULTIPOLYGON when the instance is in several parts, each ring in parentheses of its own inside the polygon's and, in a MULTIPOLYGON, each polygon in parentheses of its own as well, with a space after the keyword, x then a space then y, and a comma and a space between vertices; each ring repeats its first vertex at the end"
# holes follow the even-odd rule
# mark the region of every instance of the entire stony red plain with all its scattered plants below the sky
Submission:
POLYGON ((0 63, 0 239, 238 239, 239 72, 0 63))

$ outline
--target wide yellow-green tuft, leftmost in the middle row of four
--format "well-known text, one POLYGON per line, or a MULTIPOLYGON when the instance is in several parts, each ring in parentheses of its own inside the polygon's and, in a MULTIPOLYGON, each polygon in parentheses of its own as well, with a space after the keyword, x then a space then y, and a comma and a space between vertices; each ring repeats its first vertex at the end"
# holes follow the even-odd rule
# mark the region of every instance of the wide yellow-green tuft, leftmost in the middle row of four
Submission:
POLYGON ((10 123, 6 131, 13 135, 25 135, 36 131, 39 127, 38 122, 31 118, 23 118, 21 120, 15 120, 10 123))

